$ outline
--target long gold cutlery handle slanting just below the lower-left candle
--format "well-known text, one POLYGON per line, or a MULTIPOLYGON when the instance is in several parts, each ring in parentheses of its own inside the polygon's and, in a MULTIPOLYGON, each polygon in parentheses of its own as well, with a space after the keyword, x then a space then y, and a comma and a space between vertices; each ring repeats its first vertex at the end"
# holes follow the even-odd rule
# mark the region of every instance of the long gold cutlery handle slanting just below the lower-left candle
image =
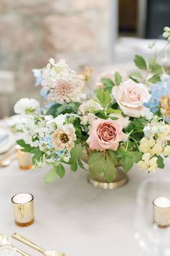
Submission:
POLYGON ((22 242, 24 244, 27 244, 27 246, 32 247, 33 249, 36 249, 38 252, 41 252, 42 255, 46 255, 46 256, 66 256, 65 253, 63 252, 58 252, 58 251, 46 251, 45 249, 42 249, 41 247, 39 247, 37 244, 31 242, 30 240, 28 240, 27 238, 25 238, 24 236, 21 236, 20 234, 14 233, 12 234, 12 237, 14 239, 17 239, 19 242, 22 242))

